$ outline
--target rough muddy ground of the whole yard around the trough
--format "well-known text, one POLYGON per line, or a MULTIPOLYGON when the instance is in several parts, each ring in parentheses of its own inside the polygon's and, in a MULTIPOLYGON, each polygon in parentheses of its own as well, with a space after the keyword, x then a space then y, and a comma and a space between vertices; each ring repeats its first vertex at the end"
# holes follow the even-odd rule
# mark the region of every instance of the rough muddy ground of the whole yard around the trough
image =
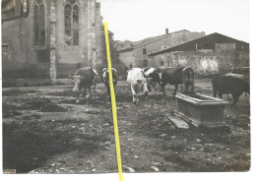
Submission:
MULTIPOLYGON (((167 117, 177 104, 173 87, 132 104, 125 82, 116 91, 124 172, 247 171, 250 169, 250 104, 226 107, 230 133, 177 128, 167 117)), ((210 80, 196 91, 212 95, 210 80)), ((3 89, 3 167, 17 173, 117 172, 111 104, 97 85, 94 97, 76 104, 70 86, 3 89)), ((224 96, 224 99, 227 97, 224 96)), ((231 102, 231 99, 228 99, 231 102)))

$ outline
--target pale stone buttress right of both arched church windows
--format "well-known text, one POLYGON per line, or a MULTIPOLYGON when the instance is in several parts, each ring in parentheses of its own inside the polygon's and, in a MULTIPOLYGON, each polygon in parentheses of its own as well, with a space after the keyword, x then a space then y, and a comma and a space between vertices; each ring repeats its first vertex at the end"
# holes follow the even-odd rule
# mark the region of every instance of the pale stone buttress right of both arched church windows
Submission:
POLYGON ((96 1, 88 0, 88 65, 96 68, 96 1))

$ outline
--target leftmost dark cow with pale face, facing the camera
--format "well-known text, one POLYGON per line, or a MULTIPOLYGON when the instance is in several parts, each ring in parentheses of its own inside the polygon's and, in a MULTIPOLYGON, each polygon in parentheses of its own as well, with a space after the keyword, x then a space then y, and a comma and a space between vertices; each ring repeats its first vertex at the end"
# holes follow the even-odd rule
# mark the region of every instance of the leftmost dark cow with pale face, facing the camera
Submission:
POLYGON ((91 97, 91 87, 94 84, 95 79, 95 72, 91 67, 84 67, 78 69, 73 78, 74 88, 72 91, 77 93, 77 100, 76 103, 79 103, 79 92, 82 89, 85 89, 86 92, 89 92, 89 95, 87 95, 87 98, 91 97))

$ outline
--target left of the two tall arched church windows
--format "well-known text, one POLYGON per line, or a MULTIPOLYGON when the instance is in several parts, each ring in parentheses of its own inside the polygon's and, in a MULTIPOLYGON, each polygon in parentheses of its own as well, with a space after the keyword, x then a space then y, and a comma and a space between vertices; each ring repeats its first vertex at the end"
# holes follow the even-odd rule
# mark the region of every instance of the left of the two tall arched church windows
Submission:
POLYGON ((45 47, 45 2, 34 0, 32 3, 32 46, 45 47))

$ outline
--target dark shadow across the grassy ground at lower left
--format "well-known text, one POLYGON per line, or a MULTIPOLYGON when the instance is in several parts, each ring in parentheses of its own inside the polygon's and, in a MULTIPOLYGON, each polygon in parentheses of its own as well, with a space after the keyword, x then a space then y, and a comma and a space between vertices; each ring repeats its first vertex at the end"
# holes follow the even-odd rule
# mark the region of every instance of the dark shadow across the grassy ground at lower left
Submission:
POLYGON ((46 120, 3 123, 3 167, 25 173, 39 167, 49 157, 69 151, 94 154, 104 135, 78 132, 75 125, 86 120, 46 120))

